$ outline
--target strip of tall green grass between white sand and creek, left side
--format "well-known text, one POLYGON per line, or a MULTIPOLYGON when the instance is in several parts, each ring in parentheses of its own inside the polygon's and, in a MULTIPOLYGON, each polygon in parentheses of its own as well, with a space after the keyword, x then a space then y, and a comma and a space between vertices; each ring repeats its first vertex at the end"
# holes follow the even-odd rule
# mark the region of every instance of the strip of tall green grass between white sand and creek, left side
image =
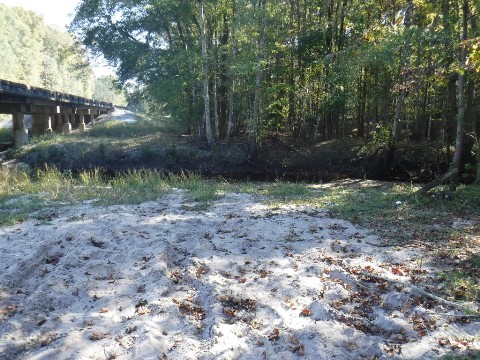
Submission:
POLYGON ((54 168, 33 173, 19 169, 0 170, 0 225, 22 222, 32 212, 94 200, 98 206, 140 204, 155 200, 173 188, 188 190, 190 201, 203 210, 216 200, 221 181, 199 175, 165 175, 156 171, 131 171, 108 178, 100 170, 83 171, 76 176, 54 168))

